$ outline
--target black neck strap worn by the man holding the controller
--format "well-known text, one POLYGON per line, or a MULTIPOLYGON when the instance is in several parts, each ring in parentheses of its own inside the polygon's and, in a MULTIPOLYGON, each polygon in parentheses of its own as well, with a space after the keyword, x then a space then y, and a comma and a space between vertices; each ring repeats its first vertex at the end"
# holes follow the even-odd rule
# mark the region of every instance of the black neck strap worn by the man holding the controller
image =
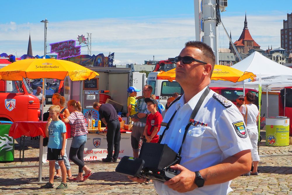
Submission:
MULTIPOLYGON (((199 101, 197 102, 197 104, 196 104, 194 110, 192 111, 192 114, 191 114, 191 116, 190 116, 190 120, 189 120, 187 126, 185 127, 185 133, 184 133, 184 135, 183 135, 183 141, 182 141, 182 144, 181 144, 180 149, 179 149, 179 151, 178 151, 178 157, 177 157, 177 158, 178 158, 179 161, 180 161, 180 158, 181 158, 180 155, 181 155, 181 151, 182 151, 182 149, 183 149, 183 143, 184 143, 184 141, 185 141, 185 137, 186 137, 186 135, 187 135, 187 130, 188 130, 189 127, 192 125, 192 121, 191 121, 191 119, 194 119, 194 118, 195 118, 195 116, 197 115, 197 113, 198 113, 198 111, 199 111, 199 109, 200 109, 200 107, 201 107, 203 101, 205 100, 205 98, 207 97, 207 95, 209 94, 209 92, 210 92, 210 89, 209 89, 209 87, 207 87, 207 88, 205 89, 205 91, 203 92, 203 94, 201 95, 199 101)), ((164 133, 166 132, 166 130, 168 130, 168 128, 169 128, 169 124, 171 123, 171 121, 172 121, 174 115, 176 114, 176 112, 177 112, 177 110, 173 113, 173 115, 171 116, 171 118, 170 118, 170 120, 169 120, 168 123, 165 123, 165 124, 161 123, 161 126, 166 126, 166 128, 164 129, 163 133, 161 134, 161 137, 159 138, 158 143, 161 142, 161 140, 162 140, 162 138, 163 138, 163 136, 164 136, 164 133)), ((180 162, 178 162, 178 164, 179 164, 179 163, 180 163, 180 162)))

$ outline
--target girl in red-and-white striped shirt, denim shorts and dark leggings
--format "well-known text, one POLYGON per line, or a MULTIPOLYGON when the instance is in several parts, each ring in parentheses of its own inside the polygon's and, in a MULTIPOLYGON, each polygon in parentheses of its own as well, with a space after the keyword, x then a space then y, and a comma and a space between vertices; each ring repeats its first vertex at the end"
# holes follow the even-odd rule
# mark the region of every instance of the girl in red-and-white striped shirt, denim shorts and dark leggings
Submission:
POLYGON ((88 134, 86 121, 81 111, 80 102, 75 100, 69 100, 67 108, 70 115, 63 121, 71 125, 71 137, 72 143, 69 152, 69 159, 79 166, 78 176, 73 181, 85 181, 92 175, 92 171, 84 165, 83 152, 84 146, 87 140, 86 134, 88 134), (83 177, 83 171, 85 175, 83 177))

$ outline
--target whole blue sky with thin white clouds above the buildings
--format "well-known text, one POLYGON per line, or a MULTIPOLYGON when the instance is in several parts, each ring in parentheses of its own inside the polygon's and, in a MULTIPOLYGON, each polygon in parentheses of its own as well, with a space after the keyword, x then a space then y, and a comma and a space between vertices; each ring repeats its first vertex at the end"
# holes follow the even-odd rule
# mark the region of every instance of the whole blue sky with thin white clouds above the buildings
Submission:
MULTIPOLYGON (((9 1, 1 2, 0 53, 27 53, 29 33, 33 55, 44 53, 44 24, 48 19, 47 43, 77 39, 92 33, 92 54, 115 52, 114 64, 163 60, 177 56, 188 40, 195 39, 194 1, 192 0, 112 0, 112 1, 9 1)), ((221 19, 232 41, 239 38, 247 13, 252 37, 267 49, 280 46, 280 29, 291 0, 229 0, 221 19)), ((228 48, 223 28, 218 45, 228 48)), ((48 49, 49 50, 49 49, 48 49)), ((87 48, 82 47, 82 54, 87 48)))

